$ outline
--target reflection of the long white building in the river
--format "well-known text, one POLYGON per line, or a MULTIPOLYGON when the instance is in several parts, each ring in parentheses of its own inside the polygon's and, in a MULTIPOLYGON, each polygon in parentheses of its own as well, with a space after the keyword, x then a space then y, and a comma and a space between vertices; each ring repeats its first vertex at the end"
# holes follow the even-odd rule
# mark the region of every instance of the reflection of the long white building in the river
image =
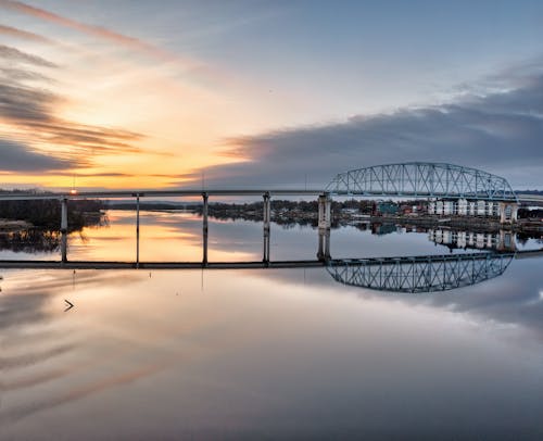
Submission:
POLYGON ((454 231, 450 229, 428 230, 430 241, 452 248, 477 248, 497 251, 515 251, 516 234, 500 230, 498 232, 454 231))

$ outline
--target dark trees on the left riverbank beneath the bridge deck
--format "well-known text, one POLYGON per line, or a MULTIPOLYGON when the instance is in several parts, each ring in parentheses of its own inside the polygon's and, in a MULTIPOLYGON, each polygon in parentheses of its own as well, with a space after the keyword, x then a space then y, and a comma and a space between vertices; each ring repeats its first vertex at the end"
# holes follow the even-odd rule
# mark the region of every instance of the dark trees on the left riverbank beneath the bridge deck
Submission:
MULTIPOLYGON (((68 229, 81 229, 102 219, 102 202, 97 200, 71 200, 67 203, 68 229)), ((59 229, 61 202, 59 200, 0 201, 0 218, 26 220, 35 227, 59 229)))

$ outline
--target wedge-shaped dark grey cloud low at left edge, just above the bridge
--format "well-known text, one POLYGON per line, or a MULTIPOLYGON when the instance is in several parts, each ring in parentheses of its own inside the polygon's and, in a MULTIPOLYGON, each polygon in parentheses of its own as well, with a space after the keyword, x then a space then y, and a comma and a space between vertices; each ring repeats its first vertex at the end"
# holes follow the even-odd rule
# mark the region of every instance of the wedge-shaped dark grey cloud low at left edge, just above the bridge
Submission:
POLYGON ((0 138, 0 171, 45 172, 76 166, 75 162, 33 151, 28 146, 0 138))

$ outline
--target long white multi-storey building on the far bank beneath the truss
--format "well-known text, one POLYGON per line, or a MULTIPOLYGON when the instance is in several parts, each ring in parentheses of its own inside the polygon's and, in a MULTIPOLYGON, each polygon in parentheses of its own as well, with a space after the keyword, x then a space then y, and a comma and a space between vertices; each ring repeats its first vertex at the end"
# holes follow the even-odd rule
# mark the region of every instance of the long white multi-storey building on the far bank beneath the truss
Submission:
POLYGON ((441 216, 483 216, 500 218, 501 223, 517 220, 517 204, 467 199, 435 199, 428 202, 428 214, 441 216))

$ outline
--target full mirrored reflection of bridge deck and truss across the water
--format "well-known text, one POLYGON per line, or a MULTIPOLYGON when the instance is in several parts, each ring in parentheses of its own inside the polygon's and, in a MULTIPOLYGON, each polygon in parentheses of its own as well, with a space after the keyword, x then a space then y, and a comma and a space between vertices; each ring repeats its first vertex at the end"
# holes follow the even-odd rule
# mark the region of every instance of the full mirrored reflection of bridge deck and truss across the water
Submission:
POLYGON ((0 261, 12 269, 257 269, 326 267, 339 282, 392 292, 434 292, 480 284, 502 275, 512 260, 541 257, 542 250, 515 254, 469 253, 425 256, 332 259, 327 262, 62 262, 0 261))

